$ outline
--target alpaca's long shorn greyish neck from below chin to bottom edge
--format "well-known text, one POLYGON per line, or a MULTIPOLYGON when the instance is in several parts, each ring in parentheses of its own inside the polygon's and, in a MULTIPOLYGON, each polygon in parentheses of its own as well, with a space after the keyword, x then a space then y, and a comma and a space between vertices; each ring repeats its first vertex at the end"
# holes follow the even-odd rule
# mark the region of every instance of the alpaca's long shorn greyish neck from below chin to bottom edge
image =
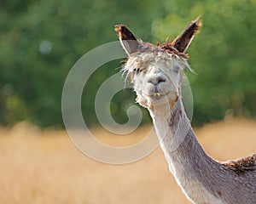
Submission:
POLYGON ((181 99, 178 99, 172 111, 169 107, 154 107, 150 115, 160 140, 160 147, 177 184, 189 200, 195 203, 225 203, 219 200, 218 193, 212 192, 214 186, 207 189, 207 179, 213 180, 213 185, 218 183, 214 183, 214 180, 218 180, 218 175, 214 174, 219 168, 218 162, 207 156, 195 139, 181 99), (206 173, 208 178, 204 176, 206 173))

